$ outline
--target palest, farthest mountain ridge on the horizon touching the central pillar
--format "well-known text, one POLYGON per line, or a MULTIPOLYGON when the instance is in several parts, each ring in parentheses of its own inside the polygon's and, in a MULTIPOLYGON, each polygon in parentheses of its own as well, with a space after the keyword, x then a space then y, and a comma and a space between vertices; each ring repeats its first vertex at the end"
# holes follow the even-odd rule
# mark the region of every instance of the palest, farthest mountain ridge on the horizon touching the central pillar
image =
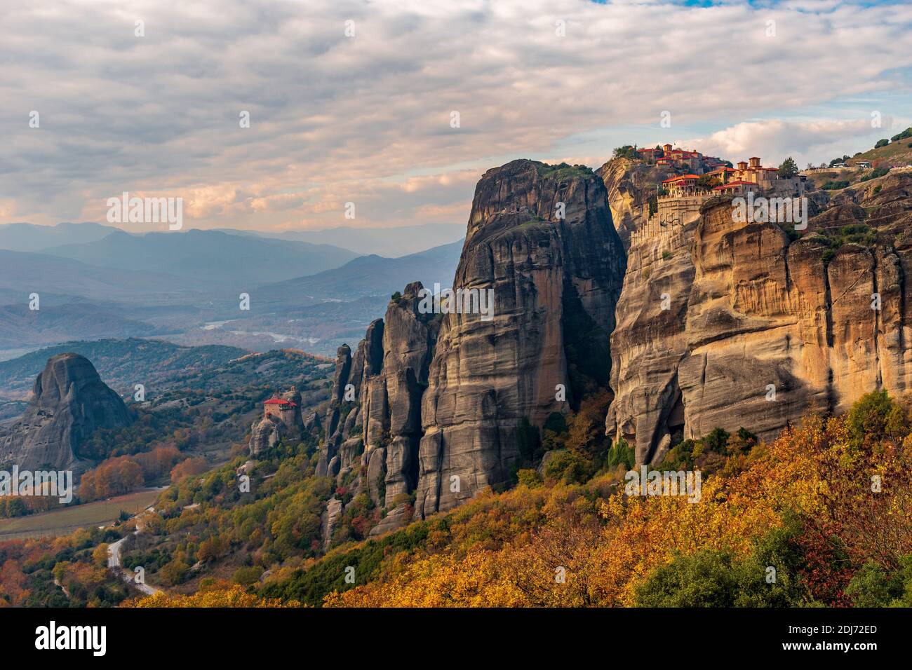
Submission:
POLYGON ((323 231, 256 232, 223 229, 235 235, 256 235, 280 240, 336 244, 356 253, 377 253, 395 258, 445 244, 465 234, 464 223, 425 223, 394 228, 342 226, 323 231))

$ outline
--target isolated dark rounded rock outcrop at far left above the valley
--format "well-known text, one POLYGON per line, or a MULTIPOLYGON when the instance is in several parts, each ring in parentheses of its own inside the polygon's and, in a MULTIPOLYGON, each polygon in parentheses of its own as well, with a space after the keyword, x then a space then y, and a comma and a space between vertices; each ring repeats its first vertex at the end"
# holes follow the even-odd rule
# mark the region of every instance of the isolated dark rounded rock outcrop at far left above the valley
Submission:
POLYGON ((36 378, 22 418, 0 442, 0 462, 20 469, 78 469, 78 448, 98 428, 129 426, 123 400, 88 358, 58 354, 36 378))

